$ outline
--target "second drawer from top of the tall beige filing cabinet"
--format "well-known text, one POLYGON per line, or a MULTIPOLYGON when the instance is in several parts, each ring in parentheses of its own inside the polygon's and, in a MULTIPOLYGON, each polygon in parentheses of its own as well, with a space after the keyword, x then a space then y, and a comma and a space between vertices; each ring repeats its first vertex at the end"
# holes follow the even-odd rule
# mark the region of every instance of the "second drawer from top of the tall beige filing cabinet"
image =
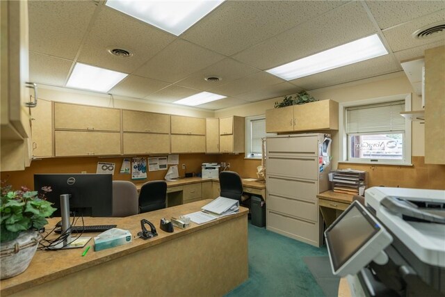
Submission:
POLYGON ((268 176, 318 179, 318 157, 268 156, 266 168, 268 176))

